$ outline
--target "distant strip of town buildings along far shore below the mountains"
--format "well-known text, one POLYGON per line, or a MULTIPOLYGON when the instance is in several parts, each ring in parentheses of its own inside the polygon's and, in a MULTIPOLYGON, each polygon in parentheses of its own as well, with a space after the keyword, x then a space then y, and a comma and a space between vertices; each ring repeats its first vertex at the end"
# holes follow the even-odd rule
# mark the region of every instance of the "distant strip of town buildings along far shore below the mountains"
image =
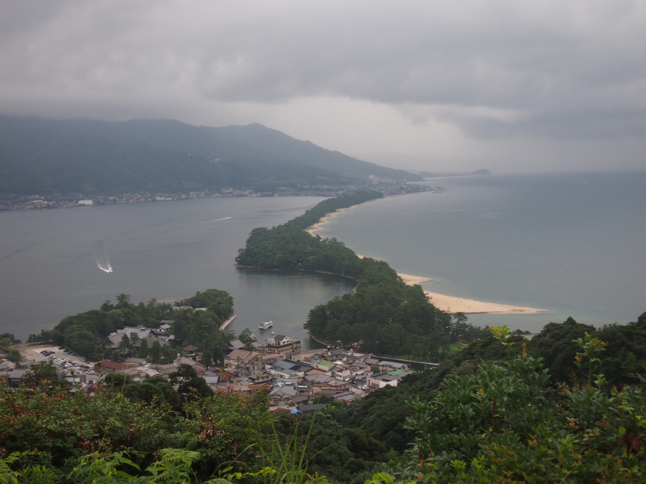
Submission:
MULTIPOLYGON (((415 183, 399 183, 390 179, 379 179, 371 176, 370 187, 379 190, 386 196, 403 195, 417 192, 443 192, 446 188, 429 187, 415 183)), ((0 211, 3 210, 49 210, 52 208, 89 207, 93 205, 114 205, 122 203, 156 203, 181 201, 196 198, 219 197, 338 197, 352 194, 366 186, 348 185, 329 187, 328 185, 297 185, 297 187, 278 187, 271 191, 254 190, 254 188, 222 188, 203 192, 138 192, 115 195, 90 196, 89 194, 68 194, 46 196, 16 196, 0 199, 0 211)))

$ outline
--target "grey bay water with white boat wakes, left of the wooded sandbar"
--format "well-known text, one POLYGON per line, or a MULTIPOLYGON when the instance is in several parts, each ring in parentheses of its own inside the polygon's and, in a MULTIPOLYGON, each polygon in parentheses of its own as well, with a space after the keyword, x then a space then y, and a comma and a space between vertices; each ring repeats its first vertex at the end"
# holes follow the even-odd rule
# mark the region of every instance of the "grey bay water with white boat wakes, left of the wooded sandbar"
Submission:
POLYGON ((276 332, 307 346, 309 310, 351 290, 351 281, 233 264, 253 228, 284 223, 321 200, 209 198, 0 213, 0 332, 24 341, 122 292, 134 302, 163 301, 218 288, 234 299, 230 329, 260 336, 258 323, 272 319, 276 332), (112 274, 96 266, 105 257, 112 274))

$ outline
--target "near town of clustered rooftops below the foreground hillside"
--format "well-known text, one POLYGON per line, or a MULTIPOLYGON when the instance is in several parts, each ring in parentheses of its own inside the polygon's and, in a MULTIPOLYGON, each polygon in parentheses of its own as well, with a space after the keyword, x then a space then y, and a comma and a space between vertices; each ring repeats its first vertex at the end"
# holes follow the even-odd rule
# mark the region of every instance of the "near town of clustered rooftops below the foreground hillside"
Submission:
MULTIPOLYGON (((108 336, 110 347, 118 348, 124 336, 132 341, 133 348, 141 347, 144 340, 149 347, 170 345, 173 322, 163 320, 156 328, 140 325, 117 330, 108 336)), ((280 334, 262 342, 251 334, 251 340, 245 345, 240 339, 233 339, 224 364, 209 367, 202 364, 199 348, 192 345, 179 349, 176 359, 163 365, 151 363, 150 357, 90 362, 63 347, 23 345, 18 347, 21 361, 7 359, 0 363, 0 380, 10 387, 19 387, 28 378, 32 365, 45 361, 52 363, 57 379, 70 383, 70 392, 92 395, 110 373, 127 375, 134 382, 168 380, 180 365, 188 365, 214 392, 266 391, 270 412, 307 413, 330 401, 353 403, 377 388, 397 386, 413 372, 408 363, 351 349, 304 350, 298 339, 280 334)))

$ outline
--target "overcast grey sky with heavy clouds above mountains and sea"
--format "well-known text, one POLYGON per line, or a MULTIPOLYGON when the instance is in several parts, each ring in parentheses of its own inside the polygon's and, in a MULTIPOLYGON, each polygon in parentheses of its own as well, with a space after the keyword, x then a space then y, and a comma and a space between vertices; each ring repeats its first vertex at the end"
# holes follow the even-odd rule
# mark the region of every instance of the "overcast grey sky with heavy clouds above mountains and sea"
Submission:
POLYGON ((257 122, 409 169, 646 169, 646 2, 3 1, 0 112, 257 122))

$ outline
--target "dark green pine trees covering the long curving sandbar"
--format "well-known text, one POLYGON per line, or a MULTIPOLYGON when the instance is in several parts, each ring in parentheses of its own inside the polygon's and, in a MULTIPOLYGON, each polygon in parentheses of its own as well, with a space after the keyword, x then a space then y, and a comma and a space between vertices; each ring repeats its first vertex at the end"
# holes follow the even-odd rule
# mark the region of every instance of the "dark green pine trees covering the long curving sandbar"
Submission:
POLYGON ((255 228, 236 261, 267 269, 319 270, 357 281, 353 294, 336 297, 309 312, 306 328, 324 341, 341 341, 384 356, 438 360, 452 343, 481 331, 435 308, 419 285, 409 286, 387 263, 359 258, 336 239, 312 237, 304 228, 339 208, 379 198, 375 192, 328 199, 278 227, 255 228))

